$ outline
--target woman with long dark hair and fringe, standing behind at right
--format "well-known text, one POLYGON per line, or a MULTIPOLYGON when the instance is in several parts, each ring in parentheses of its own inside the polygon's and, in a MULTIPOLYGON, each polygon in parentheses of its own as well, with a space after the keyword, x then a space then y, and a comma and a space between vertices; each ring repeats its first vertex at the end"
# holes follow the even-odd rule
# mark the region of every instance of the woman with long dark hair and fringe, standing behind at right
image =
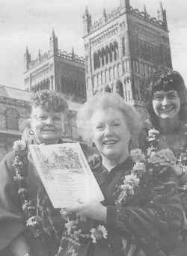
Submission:
POLYGON ((159 69, 148 79, 146 91, 150 123, 158 131, 158 152, 150 161, 168 165, 167 159, 177 157, 178 164, 173 165, 174 171, 186 181, 187 94, 183 77, 177 71, 159 69), (162 151, 159 153, 163 148, 170 149, 165 156, 162 151))

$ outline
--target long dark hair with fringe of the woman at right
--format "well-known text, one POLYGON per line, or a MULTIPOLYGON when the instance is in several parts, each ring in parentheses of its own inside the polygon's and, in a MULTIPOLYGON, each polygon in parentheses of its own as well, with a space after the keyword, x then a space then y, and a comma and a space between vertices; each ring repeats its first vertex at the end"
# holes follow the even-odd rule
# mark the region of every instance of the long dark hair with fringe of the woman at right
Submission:
POLYGON ((154 127, 159 128, 159 118, 153 109, 153 94, 156 91, 177 91, 180 97, 180 120, 187 120, 187 90, 179 72, 167 67, 160 67, 144 82, 144 101, 154 127))

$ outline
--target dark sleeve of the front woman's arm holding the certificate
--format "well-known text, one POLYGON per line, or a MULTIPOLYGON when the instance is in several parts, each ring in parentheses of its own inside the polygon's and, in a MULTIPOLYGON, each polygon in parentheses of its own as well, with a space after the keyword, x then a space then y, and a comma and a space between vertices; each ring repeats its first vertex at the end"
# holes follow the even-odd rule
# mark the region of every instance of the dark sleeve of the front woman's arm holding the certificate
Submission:
POLYGON ((107 207, 107 225, 135 237, 144 248, 168 252, 180 243, 184 211, 170 168, 155 175, 147 174, 146 188, 142 186, 135 204, 107 207))

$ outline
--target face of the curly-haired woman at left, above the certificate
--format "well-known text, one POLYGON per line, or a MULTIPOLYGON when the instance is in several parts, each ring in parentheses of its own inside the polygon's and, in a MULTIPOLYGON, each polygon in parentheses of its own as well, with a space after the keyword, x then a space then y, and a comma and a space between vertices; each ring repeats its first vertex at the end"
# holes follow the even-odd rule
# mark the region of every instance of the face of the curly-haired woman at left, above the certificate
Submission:
POLYGON ((62 134, 62 113, 46 111, 40 106, 31 112, 31 129, 39 143, 55 144, 62 134))

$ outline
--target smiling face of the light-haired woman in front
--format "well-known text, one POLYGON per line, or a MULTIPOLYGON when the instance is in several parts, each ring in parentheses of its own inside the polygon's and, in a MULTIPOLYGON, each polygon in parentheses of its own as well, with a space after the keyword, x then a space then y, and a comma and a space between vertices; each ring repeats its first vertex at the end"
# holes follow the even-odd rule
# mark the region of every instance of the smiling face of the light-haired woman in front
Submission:
POLYGON ((93 142, 102 157, 117 163, 129 155, 129 129, 124 115, 117 109, 98 109, 91 118, 93 142))

